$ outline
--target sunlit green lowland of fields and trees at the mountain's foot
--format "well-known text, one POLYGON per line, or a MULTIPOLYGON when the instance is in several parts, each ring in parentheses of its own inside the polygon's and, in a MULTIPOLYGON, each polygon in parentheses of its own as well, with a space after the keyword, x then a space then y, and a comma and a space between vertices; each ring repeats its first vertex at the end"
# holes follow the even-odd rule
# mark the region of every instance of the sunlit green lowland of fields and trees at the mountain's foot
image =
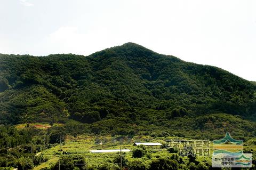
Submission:
MULTIPOLYGON (((66 129, 69 134, 63 134, 65 125, 53 125, 47 130, 38 128, 38 126, 49 126, 49 124, 34 123, 2 127, 2 135, 5 136, 3 141, 9 142, 9 149, 2 150, 5 156, 0 156, 0 167, 15 167, 18 169, 44 169, 58 170, 59 163, 61 169, 83 170, 89 169, 120 169, 120 156, 118 152, 111 153, 91 153, 90 150, 109 150, 109 149, 130 149, 131 152, 122 153, 124 161, 123 168, 136 169, 142 165, 142 170, 153 170, 152 166, 157 163, 158 166, 163 164, 175 164, 175 168, 171 169, 211 169, 211 153, 213 143, 210 143, 209 156, 197 156, 194 158, 180 156, 176 149, 166 148, 166 140, 193 140, 189 137, 180 137, 177 135, 164 137, 149 135, 134 136, 114 136, 114 135, 90 135, 70 133, 74 130, 74 126, 66 129), (36 126, 37 125, 37 126, 36 126), (12 135, 12 136, 8 136, 12 135), (15 137, 14 137, 15 136, 15 137), (22 141, 26 139, 26 141, 22 141), (23 142, 25 144, 17 145, 15 142, 23 142), (135 147, 135 142, 159 142, 162 146, 143 148, 135 147), (15 146, 15 144, 17 146, 15 146), (135 151, 142 150, 141 156, 135 156, 135 151), (70 163, 70 164, 69 164, 70 163), (136 166, 136 168, 131 168, 136 166)), ((78 131, 75 131, 78 132, 78 131)), ((224 136, 214 138, 222 139, 224 136)), ((234 139, 239 139, 234 136, 234 139)), ((197 139, 198 140, 198 139, 197 139)), ((210 140, 212 141, 212 140, 210 140)), ((243 150, 245 153, 253 153, 253 161, 255 162, 256 139, 251 137, 244 140, 243 150)), ((137 154, 138 155, 138 154, 137 154)), ((166 169, 166 168, 164 168, 166 169)))

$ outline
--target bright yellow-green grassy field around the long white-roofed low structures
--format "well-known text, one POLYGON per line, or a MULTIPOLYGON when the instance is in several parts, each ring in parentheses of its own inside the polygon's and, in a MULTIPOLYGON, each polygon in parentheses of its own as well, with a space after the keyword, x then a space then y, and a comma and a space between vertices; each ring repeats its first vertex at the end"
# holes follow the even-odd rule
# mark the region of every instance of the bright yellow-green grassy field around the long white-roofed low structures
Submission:
MULTIPOLYGON (((177 137, 173 137, 177 139, 177 137)), ((130 149, 134 148, 134 142, 160 142, 165 143, 165 139, 162 137, 153 138, 150 136, 134 136, 134 137, 111 137, 111 136, 101 136, 101 137, 92 137, 92 136, 78 136, 77 138, 68 136, 66 137, 65 142, 62 142, 61 145, 56 145, 50 149, 47 149, 40 153, 40 156, 43 156, 48 159, 45 163, 42 163, 39 166, 36 166, 34 169, 39 170, 44 167, 49 167, 57 163, 60 154, 62 152, 67 152, 71 155, 83 155, 86 159, 86 163, 89 166, 97 167, 101 164, 109 164, 111 166, 117 166, 113 163, 115 156, 118 153, 90 153, 90 150, 98 149, 130 149), (100 144, 102 143, 102 144, 100 144), (62 150, 62 151, 60 151, 62 150)), ((170 156, 170 153, 167 152, 167 149, 162 149, 161 147, 147 147, 149 156, 137 158, 142 159, 146 163, 150 162, 152 159, 158 157, 167 157, 170 156)), ((132 152, 124 153, 125 158, 130 161, 132 158, 132 152)), ((210 161, 210 157, 198 157, 204 161, 210 161)), ((183 161, 187 162, 188 158, 183 157, 183 161)))

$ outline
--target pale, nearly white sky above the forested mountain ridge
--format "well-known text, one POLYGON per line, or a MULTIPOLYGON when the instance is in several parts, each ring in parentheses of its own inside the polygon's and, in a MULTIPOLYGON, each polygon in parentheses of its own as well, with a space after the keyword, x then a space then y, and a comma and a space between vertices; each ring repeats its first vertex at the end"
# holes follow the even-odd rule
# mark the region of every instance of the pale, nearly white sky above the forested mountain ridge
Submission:
POLYGON ((256 81, 254 0, 0 0, 0 53, 90 55, 127 42, 256 81))

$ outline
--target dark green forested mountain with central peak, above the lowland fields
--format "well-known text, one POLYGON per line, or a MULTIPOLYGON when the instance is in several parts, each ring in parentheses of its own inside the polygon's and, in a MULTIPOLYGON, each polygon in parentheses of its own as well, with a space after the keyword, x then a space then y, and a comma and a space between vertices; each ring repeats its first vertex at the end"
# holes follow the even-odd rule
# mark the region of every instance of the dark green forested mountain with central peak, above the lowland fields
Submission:
POLYGON ((134 43, 89 56, 0 54, 0 72, 0 124, 83 123, 87 133, 114 135, 256 135, 255 83, 134 43))

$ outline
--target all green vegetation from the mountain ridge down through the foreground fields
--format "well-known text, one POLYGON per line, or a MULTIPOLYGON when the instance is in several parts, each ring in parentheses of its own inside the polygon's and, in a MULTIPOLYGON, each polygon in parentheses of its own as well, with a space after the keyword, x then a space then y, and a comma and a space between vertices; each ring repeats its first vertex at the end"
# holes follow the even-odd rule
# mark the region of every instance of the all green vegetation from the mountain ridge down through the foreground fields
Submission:
POLYGON ((227 132, 255 169, 255 120, 255 82, 134 43, 89 56, 0 54, 0 169, 120 169, 117 153, 89 153, 119 147, 132 150, 123 168, 212 169, 211 157, 132 144, 227 132))

